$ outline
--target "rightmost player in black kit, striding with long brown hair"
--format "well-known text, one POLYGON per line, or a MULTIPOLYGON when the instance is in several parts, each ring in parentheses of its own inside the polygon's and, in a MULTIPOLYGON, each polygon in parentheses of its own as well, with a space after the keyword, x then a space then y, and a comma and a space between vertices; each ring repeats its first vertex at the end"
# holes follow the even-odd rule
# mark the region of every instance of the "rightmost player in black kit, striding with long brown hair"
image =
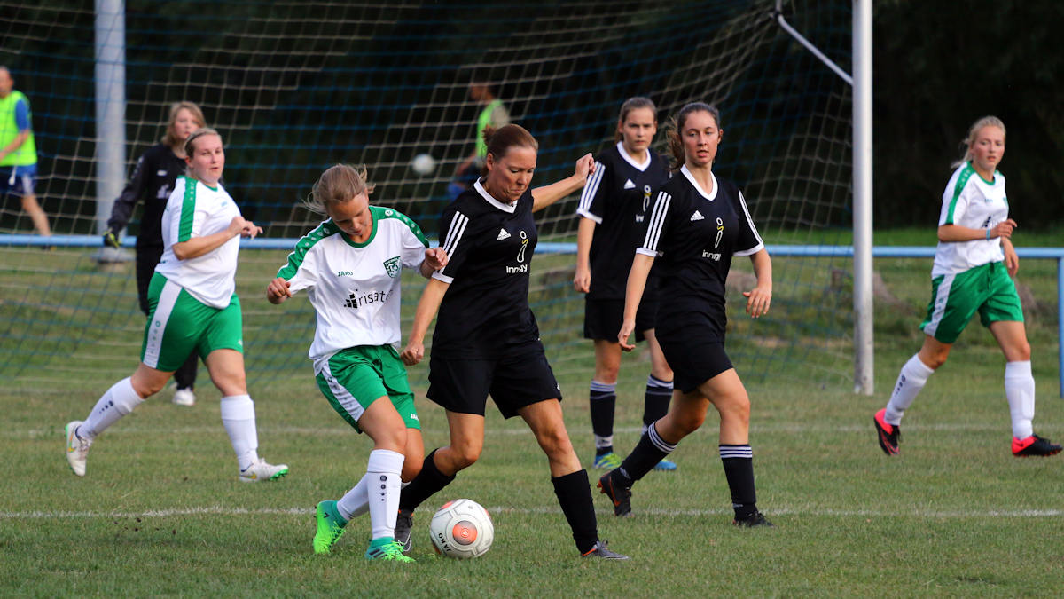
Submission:
POLYGON ((772 265, 750 220, 743 193, 713 175, 720 143, 720 114, 696 102, 680 110, 669 133, 679 174, 654 194, 646 237, 636 250, 625 295, 628 336, 651 265, 661 269, 658 341, 676 373, 676 391, 667 415, 654 422, 620 467, 599 480, 613 501, 614 514, 631 513, 631 487, 676 444, 705 420, 710 404, 720 414, 720 460, 731 489, 733 523, 771 525, 757 506, 753 452, 750 449, 750 399, 725 353, 725 280, 733 256, 749 256, 758 285, 743 292, 746 311, 758 318, 772 297, 772 265))

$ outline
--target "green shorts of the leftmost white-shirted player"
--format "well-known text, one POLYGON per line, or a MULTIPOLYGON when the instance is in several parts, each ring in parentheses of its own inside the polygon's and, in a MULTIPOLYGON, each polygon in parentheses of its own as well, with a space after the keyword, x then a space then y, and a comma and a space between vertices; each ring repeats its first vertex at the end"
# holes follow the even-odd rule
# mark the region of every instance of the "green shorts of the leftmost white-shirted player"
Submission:
POLYGON ((155 273, 148 285, 148 309, 140 344, 145 366, 173 372, 193 352, 201 358, 215 350, 244 353, 244 317, 235 293, 229 306, 213 308, 155 273))

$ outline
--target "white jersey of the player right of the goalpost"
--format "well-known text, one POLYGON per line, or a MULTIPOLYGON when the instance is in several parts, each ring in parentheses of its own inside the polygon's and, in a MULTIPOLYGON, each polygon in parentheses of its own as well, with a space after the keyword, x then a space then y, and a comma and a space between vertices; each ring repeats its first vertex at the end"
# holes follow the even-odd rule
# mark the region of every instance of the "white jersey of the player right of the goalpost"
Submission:
MULTIPOLYGON (((957 167, 942 194, 938 226, 960 225, 986 229, 1009 217, 1004 175, 994 172, 994 180, 984 180, 970 162, 957 167)), ((1004 260, 1000 239, 938 242, 931 276, 957 274, 988 262, 1004 260)))

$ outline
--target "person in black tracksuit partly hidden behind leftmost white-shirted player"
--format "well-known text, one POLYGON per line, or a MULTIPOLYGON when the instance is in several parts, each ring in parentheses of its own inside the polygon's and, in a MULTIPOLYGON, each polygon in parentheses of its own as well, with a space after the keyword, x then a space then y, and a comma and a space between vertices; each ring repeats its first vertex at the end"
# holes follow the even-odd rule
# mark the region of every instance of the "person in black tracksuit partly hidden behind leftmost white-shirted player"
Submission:
MULTIPOLYGON (((170 117, 163 142, 145 151, 133 168, 126 189, 115 200, 107 221, 107 232, 103 244, 119 247, 118 234, 129 224, 133 209, 144 203, 140 215, 140 232, 136 237, 136 290, 140 301, 140 311, 146 315, 148 286, 155 274, 155 266, 163 257, 163 210, 173 190, 173 183, 185 172, 185 140, 193 131, 206 127, 203 112, 193 102, 177 102, 170 107, 170 117)), ((185 363, 173 372, 177 391, 173 403, 183 406, 196 404, 196 367, 198 356, 188 355, 185 363)))

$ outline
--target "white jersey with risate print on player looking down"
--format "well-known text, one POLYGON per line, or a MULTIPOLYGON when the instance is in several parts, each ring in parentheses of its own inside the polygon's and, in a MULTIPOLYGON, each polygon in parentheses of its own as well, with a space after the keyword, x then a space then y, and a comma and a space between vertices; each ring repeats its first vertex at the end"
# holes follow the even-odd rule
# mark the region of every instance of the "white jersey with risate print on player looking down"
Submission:
POLYGON ((429 242, 405 214, 378 206, 369 212, 373 228, 365 243, 326 221, 299 240, 277 273, 293 293, 306 289, 317 312, 315 372, 340 350, 399 343, 399 273, 421 265, 429 242))

